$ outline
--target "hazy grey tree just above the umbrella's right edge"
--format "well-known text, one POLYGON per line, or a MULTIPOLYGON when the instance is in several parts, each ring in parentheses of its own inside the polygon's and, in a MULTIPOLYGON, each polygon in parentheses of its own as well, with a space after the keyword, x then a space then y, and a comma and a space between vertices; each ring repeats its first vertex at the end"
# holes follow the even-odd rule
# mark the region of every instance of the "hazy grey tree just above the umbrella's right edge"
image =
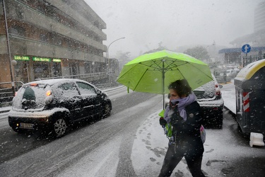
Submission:
POLYGON ((208 61, 208 59, 210 59, 210 55, 208 54, 206 47, 203 46, 196 46, 189 48, 186 51, 184 51, 184 53, 200 60, 208 61))

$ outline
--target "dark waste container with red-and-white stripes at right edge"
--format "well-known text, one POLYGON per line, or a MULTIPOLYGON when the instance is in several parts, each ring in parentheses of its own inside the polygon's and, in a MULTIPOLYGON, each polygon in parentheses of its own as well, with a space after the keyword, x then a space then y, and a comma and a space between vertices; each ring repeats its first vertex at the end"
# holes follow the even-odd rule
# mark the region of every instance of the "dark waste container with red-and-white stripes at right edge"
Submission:
POLYGON ((265 59, 252 62, 235 77, 236 120, 243 133, 265 133, 265 59))

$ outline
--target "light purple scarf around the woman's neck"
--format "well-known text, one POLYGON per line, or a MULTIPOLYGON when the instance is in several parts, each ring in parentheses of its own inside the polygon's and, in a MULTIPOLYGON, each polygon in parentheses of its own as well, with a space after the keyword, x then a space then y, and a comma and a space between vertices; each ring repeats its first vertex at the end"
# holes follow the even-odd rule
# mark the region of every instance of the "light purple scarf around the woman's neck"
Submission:
MULTIPOLYGON (((179 110, 179 115, 186 121, 187 120, 187 114, 186 110, 184 109, 187 105, 193 103, 196 101, 196 96, 194 92, 189 94, 189 96, 184 98, 177 98, 175 100, 171 100, 173 104, 175 104, 177 101, 179 101, 179 104, 177 105, 177 110, 179 110)), ((170 122, 170 116, 172 113, 170 113, 173 110, 170 110, 170 105, 167 105, 167 108, 165 109, 164 113, 164 119, 167 121, 167 123, 170 122)))

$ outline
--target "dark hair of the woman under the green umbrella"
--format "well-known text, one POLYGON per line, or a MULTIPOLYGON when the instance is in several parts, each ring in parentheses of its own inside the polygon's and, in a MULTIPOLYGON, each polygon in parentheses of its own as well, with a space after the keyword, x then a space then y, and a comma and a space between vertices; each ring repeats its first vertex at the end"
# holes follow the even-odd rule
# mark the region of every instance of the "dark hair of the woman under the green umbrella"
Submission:
POLYGON ((173 89, 177 92, 177 95, 182 98, 183 96, 188 96, 189 93, 192 93, 192 88, 189 86, 189 83, 186 79, 173 81, 168 89, 173 89))

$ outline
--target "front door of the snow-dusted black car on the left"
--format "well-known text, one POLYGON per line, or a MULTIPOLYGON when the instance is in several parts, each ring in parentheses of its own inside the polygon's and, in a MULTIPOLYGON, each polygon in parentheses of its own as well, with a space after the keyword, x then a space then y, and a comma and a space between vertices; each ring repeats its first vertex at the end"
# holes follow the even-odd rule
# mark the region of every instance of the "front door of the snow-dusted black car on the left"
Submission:
POLYGON ((78 89, 81 93, 82 103, 81 110, 82 116, 88 118, 90 116, 99 114, 101 111, 100 99, 95 91, 95 88, 85 82, 76 82, 78 89))

